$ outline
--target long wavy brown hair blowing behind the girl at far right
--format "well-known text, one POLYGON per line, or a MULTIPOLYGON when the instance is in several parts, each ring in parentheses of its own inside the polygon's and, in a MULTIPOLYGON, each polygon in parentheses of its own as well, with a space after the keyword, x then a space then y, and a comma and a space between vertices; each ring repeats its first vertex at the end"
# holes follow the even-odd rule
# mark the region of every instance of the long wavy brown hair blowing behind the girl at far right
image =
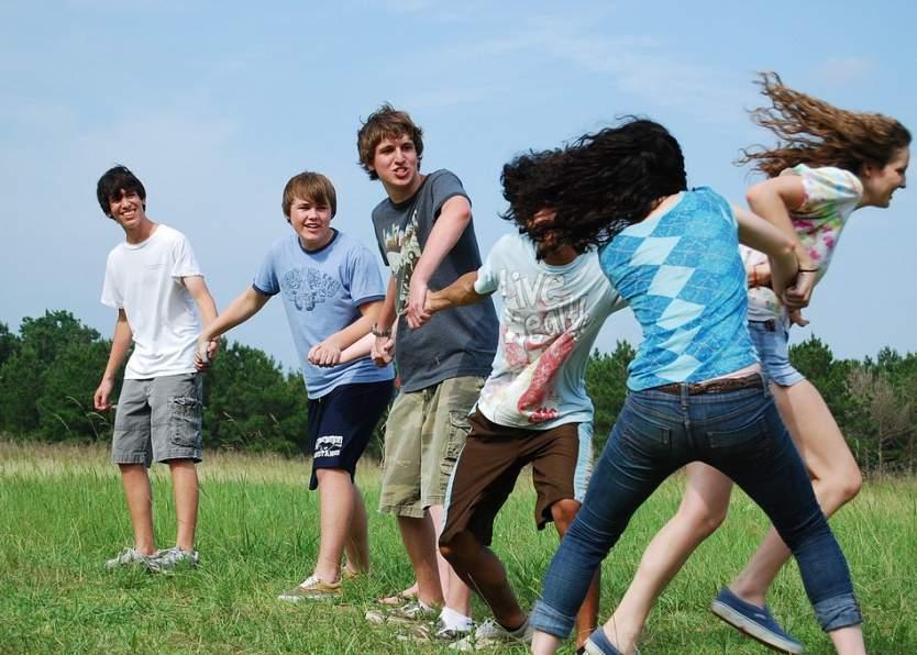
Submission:
POLYGON ((751 110, 751 120, 773 132, 777 145, 743 148, 737 164, 753 164, 767 177, 798 164, 859 175, 866 162, 884 166, 910 144, 910 132, 891 116, 839 109, 784 86, 776 73, 761 73, 755 84, 771 106, 751 110))

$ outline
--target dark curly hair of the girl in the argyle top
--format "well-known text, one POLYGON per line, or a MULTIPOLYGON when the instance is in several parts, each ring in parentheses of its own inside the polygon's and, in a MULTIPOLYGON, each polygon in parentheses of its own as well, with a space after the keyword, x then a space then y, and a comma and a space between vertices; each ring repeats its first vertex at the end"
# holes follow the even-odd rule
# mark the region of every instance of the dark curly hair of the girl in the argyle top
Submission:
POLYGON ((563 149, 529 152, 504 166, 502 218, 542 246, 579 253, 639 223, 659 201, 687 188, 682 148, 656 122, 626 116, 563 149), (553 221, 533 222, 540 210, 553 221))

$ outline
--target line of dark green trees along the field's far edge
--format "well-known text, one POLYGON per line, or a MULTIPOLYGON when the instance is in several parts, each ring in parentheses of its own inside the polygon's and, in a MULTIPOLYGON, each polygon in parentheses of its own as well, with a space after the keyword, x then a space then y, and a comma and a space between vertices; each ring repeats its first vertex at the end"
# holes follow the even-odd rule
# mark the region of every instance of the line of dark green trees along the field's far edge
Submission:
MULTIPOLYGON (((0 323, 0 433, 13 440, 109 441, 113 413, 95 411, 92 395, 110 346, 67 311, 25 318, 18 333, 0 323)), ((620 341, 614 352, 596 351, 589 358, 586 387, 595 403, 597 452, 623 406, 634 354, 620 341)), ((917 353, 886 347, 875 358, 838 359, 811 336, 791 346, 789 356, 821 392, 864 471, 917 471, 917 353)), ((284 370, 258 348, 223 342, 205 385, 206 447, 292 456, 306 446, 306 414, 299 371, 284 370)), ((380 452, 377 429, 369 453, 380 452)))

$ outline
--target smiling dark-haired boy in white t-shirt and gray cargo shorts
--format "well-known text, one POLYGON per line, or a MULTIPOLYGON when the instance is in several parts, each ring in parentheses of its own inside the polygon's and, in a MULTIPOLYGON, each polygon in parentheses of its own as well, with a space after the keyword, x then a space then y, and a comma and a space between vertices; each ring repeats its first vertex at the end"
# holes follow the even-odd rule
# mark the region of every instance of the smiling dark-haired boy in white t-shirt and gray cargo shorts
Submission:
MULTIPOLYGON (((142 564, 155 571, 196 565, 195 529, 201 459, 201 378, 195 366, 200 332, 217 306, 203 281, 191 244, 180 232, 146 217, 146 190, 124 166, 115 166, 96 189, 99 206, 125 234, 108 256, 102 303, 118 310, 111 353, 96 390, 99 411, 112 407, 114 376, 131 347, 112 440, 112 460, 121 469, 131 512, 134 545, 106 567, 142 564), (167 463, 175 493, 175 547, 157 551, 147 467, 167 463)), ((212 358, 217 342, 209 344, 212 358)))

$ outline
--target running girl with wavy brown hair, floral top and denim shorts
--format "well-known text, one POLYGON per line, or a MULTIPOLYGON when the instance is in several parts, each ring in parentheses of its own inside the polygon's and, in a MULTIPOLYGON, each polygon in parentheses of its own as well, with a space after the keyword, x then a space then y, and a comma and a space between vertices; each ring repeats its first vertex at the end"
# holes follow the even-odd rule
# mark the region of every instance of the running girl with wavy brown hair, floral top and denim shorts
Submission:
MULTIPOLYGON (((832 260, 850 214, 861 207, 888 207, 895 190, 904 188, 910 133, 893 118, 838 109, 795 91, 775 74, 762 74, 759 84, 770 106, 753 110, 751 116, 777 143, 743 151, 739 163, 752 164, 767 178, 749 189, 748 201, 755 213, 795 240, 802 271, 797 293, 807 301, 832 260)), ((789 363, 788 329, 791 321, 804 322, 802 317, 781 302, 767 257, 748 248, 743 257, 752 341, 816 498, 830 517, 859 492, 860 470, 818 390, 789 363)), ((714 468, 688 465, 682 504, 650 543, 612 617, 619 645, 629 648, 639 639, 655 599, 726 518, 731 489, 732 481, 714 468)), ((799 653, 803 645, 765 604, 767 589, 788 558, 780 534, 771 530, 711 610, 772 648, 799 653)))

